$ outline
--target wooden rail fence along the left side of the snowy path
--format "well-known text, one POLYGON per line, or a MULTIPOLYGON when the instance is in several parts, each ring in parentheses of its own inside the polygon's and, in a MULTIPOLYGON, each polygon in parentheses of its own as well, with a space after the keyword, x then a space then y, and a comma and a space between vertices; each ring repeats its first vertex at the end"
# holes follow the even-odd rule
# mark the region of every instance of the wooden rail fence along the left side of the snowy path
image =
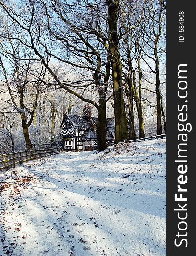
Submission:
POLYGON ((0 170, 16 167, 23 162, 33 160, 40 157, 47 157, 54 154, 59 154, 60 148, 45 148, 38 150, 19 151, 10 154, 0 155, 0 170))

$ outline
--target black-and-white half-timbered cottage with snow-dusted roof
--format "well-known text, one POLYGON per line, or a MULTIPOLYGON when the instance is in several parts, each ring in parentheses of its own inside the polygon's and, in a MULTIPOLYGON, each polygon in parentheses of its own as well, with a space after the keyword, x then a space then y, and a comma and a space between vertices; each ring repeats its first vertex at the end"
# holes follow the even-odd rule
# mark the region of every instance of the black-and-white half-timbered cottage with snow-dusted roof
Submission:
MULTIPOLYGON (((97 118, 90 115, 65 114, 60 125, 62 131, 62 149, 97 149, 97 118)), ((106 137, 108 145, 114 141, 114 118, 106 119, 106 137)))

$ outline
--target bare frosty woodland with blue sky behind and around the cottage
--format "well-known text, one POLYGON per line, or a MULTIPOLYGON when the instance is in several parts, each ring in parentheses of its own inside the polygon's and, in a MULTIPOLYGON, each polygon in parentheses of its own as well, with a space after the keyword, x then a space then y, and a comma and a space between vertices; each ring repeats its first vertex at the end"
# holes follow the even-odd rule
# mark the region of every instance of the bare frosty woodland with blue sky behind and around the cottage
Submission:
POLYGON ((65 113, 97 117, 97 149, 166 133, 165 0, 0 0, 0 153, 62 137, 65 113))

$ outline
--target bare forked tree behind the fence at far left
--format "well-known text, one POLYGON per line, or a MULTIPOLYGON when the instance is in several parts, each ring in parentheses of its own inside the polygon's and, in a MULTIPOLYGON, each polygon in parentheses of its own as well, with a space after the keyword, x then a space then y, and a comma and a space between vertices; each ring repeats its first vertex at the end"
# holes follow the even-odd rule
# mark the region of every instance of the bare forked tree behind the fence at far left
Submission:
POLYGON ((1 46, 0 68, 4 77, 2 86, 4 93, 9 94, 9 99, 3 100, 20 114, 26 148, 31 150, 28 128, 33 122, 45 70, 40 65, 38 68, 35 66, 32 50, 26 47, 23 49, 20 41, 2 40, 1 46), (10 68, 6 68, 5 62, 9 63, 10 68))

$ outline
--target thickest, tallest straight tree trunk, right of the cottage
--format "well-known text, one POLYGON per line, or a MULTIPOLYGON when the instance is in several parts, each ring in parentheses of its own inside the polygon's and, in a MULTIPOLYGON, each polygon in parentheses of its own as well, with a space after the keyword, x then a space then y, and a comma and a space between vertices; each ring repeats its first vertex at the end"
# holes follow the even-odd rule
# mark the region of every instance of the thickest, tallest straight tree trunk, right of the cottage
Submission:
POLYGON ((109 49, 111 52, 114 116, 115 116, 115 143, 128 141, 127 118, 123 99, 122 64, 120 61, 117 19, 119 0, 107 0, 109 49))

